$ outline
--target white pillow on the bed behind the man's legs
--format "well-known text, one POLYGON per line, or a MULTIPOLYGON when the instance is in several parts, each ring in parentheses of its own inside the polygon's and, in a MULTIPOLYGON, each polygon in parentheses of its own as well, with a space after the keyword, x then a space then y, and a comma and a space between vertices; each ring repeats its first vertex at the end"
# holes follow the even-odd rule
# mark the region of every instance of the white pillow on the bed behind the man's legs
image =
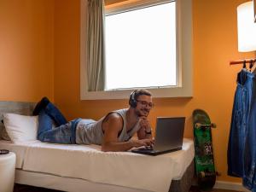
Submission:
POLYGON ((14 143, 37 140, 38 116, 5 113, 3 124, 14 143))

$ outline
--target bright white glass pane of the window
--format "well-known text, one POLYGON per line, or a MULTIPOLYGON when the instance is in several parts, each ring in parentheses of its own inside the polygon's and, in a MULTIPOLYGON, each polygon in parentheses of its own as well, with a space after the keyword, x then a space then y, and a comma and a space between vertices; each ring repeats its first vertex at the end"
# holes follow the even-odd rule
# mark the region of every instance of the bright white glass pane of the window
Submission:
POLYGON ((177 85, 175 2, 106 16, 106 90, 177 85))

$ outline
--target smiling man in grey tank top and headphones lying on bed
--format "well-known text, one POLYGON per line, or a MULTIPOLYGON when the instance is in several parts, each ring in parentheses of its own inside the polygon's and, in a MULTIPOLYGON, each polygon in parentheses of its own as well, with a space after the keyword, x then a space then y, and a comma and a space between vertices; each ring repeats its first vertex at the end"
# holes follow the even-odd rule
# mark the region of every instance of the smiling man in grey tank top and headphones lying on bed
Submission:
POLYGON ((153 145, 148 113, 153 108, 148 90, 134 90, 130 108, 108 113, 98 121, 74 119, 67 122, 48 98, 38 102, 33 111, 38 115, 38 140, 46 143, 99 144, 102 151, 126 151, 133 147, 153 145), (52 125, 56 127, 52 129, 52 125), (138 139, 131 139, 137 132, 138 139))

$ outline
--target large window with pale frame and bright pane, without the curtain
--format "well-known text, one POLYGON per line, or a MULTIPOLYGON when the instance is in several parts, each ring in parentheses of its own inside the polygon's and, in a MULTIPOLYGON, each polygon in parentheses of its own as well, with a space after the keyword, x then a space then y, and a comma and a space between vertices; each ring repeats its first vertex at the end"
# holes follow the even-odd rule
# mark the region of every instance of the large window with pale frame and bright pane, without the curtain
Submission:
POLYGON ((97 92, 87 90, 84 73, 85 2, 81 0, 81 99, 127 98, 131 89, 138 87, 146 87, 154 97, 192 96, 191 0, 144 1, 147 4, 138 1, 140 4, 109 9, 106 17, 107 86, 105 91, 97 92))

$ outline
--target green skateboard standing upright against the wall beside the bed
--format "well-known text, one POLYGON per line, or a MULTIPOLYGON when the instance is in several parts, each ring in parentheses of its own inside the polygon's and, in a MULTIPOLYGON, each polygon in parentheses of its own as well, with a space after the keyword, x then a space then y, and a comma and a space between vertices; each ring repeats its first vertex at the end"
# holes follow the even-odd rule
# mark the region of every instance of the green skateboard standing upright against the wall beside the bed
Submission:
POLYGON ((202 190, 210 190, 216 181, 216 172, 212 150, 212 128, 208 114, 195 109, 193 112, 193 126, 195 138, 195 173, 198 186, 202 190))

